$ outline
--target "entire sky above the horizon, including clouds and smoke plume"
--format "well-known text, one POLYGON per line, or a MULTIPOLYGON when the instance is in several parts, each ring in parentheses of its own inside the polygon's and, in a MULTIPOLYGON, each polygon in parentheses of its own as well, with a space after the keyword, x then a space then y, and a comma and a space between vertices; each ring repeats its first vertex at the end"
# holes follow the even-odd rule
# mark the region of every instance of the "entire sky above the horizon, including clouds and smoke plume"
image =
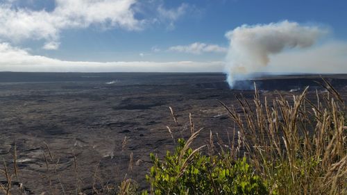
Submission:
POLYGON ((347 73, 346 10, 344 0, 0 0, 0 71, 347 73))

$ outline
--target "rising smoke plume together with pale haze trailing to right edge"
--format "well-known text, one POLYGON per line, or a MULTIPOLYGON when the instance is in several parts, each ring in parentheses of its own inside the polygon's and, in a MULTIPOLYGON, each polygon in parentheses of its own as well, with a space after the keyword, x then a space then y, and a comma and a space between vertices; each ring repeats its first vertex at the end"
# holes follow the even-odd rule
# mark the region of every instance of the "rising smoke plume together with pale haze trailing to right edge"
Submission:
POLYGON ((321 26, 288 21, 243 25, 229 31, 226 33, 230 46, 225 71, 230 87, 235 80, 262 71, 347 72, 347 44, 333 44, 331 41, 316 44, 327 34, 328 30, 321 26))

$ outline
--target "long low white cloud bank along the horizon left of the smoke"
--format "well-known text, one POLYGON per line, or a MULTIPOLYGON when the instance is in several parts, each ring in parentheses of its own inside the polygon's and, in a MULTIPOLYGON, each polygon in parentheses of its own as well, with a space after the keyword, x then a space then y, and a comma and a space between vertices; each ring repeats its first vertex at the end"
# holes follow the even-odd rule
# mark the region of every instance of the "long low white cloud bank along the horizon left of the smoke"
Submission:
POLYGON ((144 71, 221 72, 224 62, 72 62, 33 56, 24 49, 0 43, 0 71, 144 71))

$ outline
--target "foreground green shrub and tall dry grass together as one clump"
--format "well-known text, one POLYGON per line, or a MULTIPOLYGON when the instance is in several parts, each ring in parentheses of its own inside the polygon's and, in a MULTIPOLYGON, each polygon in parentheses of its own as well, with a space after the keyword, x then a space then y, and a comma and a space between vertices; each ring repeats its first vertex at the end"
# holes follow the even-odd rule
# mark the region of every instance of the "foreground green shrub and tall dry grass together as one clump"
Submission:
POLYGON ((346 103, 324 82, 315 101, 308 87, 292 101, 262 100, 255 87, 252 102, 237 97, 241 113, 221 102, 238 126, 237 144, 207 156, 203 146, 188 149, 192 134, 162 162, 151 155, 152 194, 347 194, 346 103))

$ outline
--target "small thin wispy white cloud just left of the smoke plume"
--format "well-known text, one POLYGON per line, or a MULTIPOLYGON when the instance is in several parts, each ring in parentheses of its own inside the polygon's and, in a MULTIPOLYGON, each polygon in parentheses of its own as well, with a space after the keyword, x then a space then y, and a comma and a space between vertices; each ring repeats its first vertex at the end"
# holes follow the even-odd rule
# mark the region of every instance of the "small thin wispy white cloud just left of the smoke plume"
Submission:
POLYGON ((177 52, 183 52, 183 53, 194 53, 194 54, 201 54, 201 53, 226 53, 228 49, 222 46, 218 46, 217 44, 205 44, 201 42, 194 42, 189 45, 178 45, 178 46, 171 46, 169 48, 169 51, 177 51, 177 52))

